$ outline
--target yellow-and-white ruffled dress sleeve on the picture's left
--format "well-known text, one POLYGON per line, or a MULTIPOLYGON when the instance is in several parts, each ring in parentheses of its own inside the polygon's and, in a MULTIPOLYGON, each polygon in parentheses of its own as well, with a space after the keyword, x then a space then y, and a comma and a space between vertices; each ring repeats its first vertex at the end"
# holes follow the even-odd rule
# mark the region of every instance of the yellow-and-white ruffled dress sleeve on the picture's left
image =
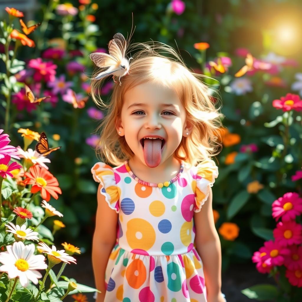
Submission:
POLYGON ((114 177, 114 170, 104 162, 97 162, 91 168, 91 173, 93 179, 102 184, 101 194, 105 196, 109 207, 118 213, 120 211, 118 203, 119 194, 114 177))

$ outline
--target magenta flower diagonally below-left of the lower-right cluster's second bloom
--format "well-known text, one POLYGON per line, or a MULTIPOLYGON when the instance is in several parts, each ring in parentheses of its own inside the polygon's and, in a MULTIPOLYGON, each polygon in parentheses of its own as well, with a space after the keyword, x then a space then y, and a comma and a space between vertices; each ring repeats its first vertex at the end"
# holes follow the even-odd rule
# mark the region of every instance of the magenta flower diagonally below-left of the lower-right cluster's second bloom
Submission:
POLYGON ((271 259, 271 265, 283 265, 284 257, 291 252, 288 248, 281 246, 273 240, 265 241, 264 246, 259 249, 260 252, 265 252, 263 260, 271 259))

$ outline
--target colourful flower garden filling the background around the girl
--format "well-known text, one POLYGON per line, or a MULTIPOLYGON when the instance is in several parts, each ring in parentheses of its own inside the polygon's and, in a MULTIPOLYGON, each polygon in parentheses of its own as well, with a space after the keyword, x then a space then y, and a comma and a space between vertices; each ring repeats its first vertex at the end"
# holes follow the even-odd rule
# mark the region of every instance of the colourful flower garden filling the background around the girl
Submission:
MULTIPOLYGON (((215 1, 160 0, 143 12, 139 1, 38 2, 34 20, 6 7, 0 21, 0 300, 87 302, 85 293, 96 291, 64 275, 91 252, 94 230, 90 169, 95 129, 107 112, 90 97, 89 54, 108 52, 115 32, 126 36, 133 12, 133 39, 179 47, 205 75, 213 102, 222 101, 213 215, 223 271, 250 263, 274 284, 251 283, 243 298, 299 302, 302 44, 292 34, 302 25, 299 2, 268 0, 260 8, 228 0, 218 8, 215 1), (252 17, 272 5, 275 23, 256 24, 252 17), (124 20, 116 18, 121 11, 124 20), (292 27, 283 34, 286 14, 292 27)), ((114 85, 110 79, 100 88, 103 100, 114 85)))

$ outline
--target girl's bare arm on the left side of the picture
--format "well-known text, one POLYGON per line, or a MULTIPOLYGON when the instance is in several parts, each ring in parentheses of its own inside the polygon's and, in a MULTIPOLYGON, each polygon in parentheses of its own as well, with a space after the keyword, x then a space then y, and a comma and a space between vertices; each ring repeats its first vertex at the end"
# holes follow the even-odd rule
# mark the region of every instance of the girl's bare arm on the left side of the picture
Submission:
POLYGON ((101 291, 96 302, 103 302, 105 297, 105 270, 111 250, 116 243, 118 214, 108 207, 104 195, 100 193, 103 186, 98 187, 98 208, 95 217, 95 232, 92 241, 92 266, 95 286, 101 291))

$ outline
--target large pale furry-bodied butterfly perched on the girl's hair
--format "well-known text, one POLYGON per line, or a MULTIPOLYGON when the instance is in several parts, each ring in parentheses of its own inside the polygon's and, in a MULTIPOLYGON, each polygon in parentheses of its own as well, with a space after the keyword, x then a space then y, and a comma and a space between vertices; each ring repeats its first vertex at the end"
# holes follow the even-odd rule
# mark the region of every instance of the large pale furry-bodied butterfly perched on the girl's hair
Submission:
MULTIPOLYGON (((132 20, 133 28, 133 20, 132 20)), ((132 33, 131 28, 131 33, 132 33)), ((134 28, 135 30, 135 28, 134 28)), ((132 33, 133 34, 133 33, 132 33)), ((130 34, 129 40, 131 39, 132 34, 130 34)), ((128 41, 129 41, 128 40, 128 41)), ((101 71, 97 76, 92 78, 92 80, 100 80, 106 76, 113 76, 113 81, 116 83, 114 77, 120 78, 127 73, 129 74, 129 58, 128 61, 125 58, 126 49, 128 47, 128 41, 125 40, 124 36, 120 33, 117 33, 113 36, 113 39, 108 43, 108 53, 91 53, 89 55, 90 59, 100 68, 107 68, 104 71, 101 71)), ((122 83, 120 82, 120 85, 122 83)))

